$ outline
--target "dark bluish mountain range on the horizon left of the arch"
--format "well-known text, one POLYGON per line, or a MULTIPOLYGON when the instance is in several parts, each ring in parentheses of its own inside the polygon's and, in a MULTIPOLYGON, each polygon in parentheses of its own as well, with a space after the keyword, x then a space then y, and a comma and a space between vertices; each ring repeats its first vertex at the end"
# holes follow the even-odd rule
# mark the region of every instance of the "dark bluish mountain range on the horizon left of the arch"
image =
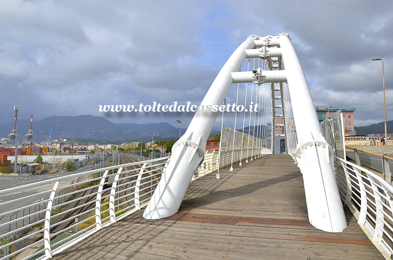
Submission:
MULTIPOLYGON (((7 137, 11 133, 14 123, 0 124, 0 137, 7 137)), ((28 133, 30 120, 20 120, 17 124, 19 140, 28 133)), ((33 121, 33 133, 36 142, 46 141, 52 129, 51 139, 95 139, 107 141, 155 140, 179 138, 179 128, 169 123, 113 123, 101 116, 50 116, 42 120, 33 121)), ((185 129, 182 129, 182 133, 185 129)), ((20 142, 20 141, 19 141, 20 142)))

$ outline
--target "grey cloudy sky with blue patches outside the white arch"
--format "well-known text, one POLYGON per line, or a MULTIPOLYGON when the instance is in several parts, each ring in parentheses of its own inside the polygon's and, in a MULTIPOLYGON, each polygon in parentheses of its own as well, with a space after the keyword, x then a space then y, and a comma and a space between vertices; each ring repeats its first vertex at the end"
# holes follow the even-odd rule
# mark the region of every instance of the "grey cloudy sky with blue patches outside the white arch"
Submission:
MULTIPOLYGON (((0 0, 0 123, 52 115, 169 122, 192 114, 103 114, 99 105, 199 103, 249 35, 290 35, 315 105, 393 120, 391 0, 0 0)), ((184 124, 182 124, 183 126, 184 124)))

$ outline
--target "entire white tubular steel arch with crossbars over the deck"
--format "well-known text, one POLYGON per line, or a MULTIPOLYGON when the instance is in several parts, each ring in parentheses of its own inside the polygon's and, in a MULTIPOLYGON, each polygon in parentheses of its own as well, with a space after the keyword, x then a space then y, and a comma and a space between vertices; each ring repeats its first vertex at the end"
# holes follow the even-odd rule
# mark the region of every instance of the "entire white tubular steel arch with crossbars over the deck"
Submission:
MULTIPOLYGON (((292 155, 303 173, 309 221, 316 228, 330 232, 347 228, 333 174, 332 148, 322 135, 303 69, 287 34, 249 36, 218 73, 201 105, 222 105, 233 83, 246 82, 258 85, 288 82, 298 137, 296 154, 292 155), (247 58, 267 59, 270 64, 278 61, 279 70, 258 68, 238 72, 247 58)), ((144 218, 160 219, 178 212, 193 172, 203 160, 205 143, 217 115, 218 112, 195 113, 186 133, 173 146, 170 162, 143 213, 144 218)))

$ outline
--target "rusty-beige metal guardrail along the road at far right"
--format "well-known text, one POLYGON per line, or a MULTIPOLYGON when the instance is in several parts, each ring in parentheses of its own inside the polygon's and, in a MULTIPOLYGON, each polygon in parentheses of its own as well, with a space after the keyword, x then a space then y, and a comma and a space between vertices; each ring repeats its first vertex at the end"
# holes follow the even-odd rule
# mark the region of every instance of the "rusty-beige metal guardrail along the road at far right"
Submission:
POLYGON ((393 157, 391 157, 391 156, 389 156, 389 155, 386 155, 386 154, 381 154, 381 153, 376 153, 376 152, 370 152, 370 151, 359 150, 359 149, 357 149, 357 148, 348 147, 348 146, 346 146, 346 149, 347 149, 347 150, 352 150, 352 151, 353 151, 354 156, 355 156, 355 162, 356 162, 356 165, 358 165, 358 166, 366 166, 366 167, 371 168, 370 165, 365 165, 365 164, 363 164, 363 163, 361 162, 359 153, 374 155, 374 156, 376 156, 376 157, 381 158, 381 169, 382 169, 382 170, 375 169, 375 168, 372 168, 372 170, 375 171, 375 172, 379 172, 380 174, 382 174, 383 179, 384 179, 387 183, 389 183, 389 184, 392 183, 391 171, 390 171, 390 165, 389 165, 389 163, 390 163, 390 162, 393 162, 393 157))

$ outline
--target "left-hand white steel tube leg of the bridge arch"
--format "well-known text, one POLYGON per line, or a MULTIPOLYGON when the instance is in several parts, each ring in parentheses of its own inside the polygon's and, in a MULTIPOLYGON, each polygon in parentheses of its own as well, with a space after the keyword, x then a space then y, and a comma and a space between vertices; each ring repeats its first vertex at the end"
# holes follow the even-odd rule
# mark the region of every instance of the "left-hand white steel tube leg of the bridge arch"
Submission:
MULTIPOLYGON (((232 85, 231 72, 239 71, 246 56, 245 50, 254 48, 256 39, 258 39, 256 36, 248 37, 234 51, 210 86, 201 106, 220 106, 224 103, 232 85)), ((204 158, 205 143, 217 115, 218 111, 195 113, 186 133, 172 148, 171 159, 143 212, 144 218, 161 219, 179 211, 193 172, 204 158)))

